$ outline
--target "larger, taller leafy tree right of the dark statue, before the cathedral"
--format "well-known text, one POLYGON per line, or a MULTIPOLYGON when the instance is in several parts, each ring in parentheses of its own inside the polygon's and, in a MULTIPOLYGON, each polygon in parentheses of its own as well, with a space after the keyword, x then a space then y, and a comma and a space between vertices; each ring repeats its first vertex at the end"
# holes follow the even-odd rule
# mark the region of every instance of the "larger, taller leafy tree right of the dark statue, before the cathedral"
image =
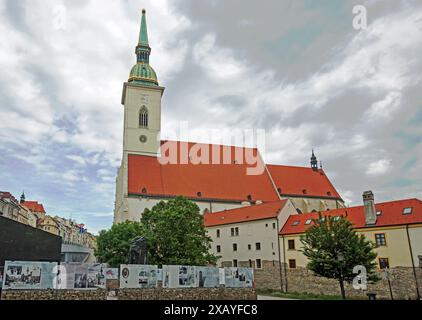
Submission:
POLYGON ((199 207, 192 201, 183 197, 162 201, 145 210, 141 224, 148 240, 149 263, 205 266, 217 262, 209 253, 212 240, 199 207))

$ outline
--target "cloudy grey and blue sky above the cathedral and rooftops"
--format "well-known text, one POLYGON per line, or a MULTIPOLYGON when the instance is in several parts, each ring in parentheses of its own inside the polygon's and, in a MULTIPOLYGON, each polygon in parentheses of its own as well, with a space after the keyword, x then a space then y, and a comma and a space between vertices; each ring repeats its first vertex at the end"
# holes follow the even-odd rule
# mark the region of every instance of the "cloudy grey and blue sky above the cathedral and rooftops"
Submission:
POLYGON ((268 162, 315 148, 349 205, 422 198, 420 0, 0 0, 0 190, 110 226, 143 7, 163 138, 261 128, 268 162))

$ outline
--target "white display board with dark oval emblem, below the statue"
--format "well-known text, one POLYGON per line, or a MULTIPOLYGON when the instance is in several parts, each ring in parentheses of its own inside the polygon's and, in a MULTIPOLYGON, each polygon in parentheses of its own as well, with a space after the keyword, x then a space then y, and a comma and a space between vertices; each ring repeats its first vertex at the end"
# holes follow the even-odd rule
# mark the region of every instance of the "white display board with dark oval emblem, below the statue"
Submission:
POLYGON ((128 289, 156 288, 158 266, 121 265, 120 287, 128 289))

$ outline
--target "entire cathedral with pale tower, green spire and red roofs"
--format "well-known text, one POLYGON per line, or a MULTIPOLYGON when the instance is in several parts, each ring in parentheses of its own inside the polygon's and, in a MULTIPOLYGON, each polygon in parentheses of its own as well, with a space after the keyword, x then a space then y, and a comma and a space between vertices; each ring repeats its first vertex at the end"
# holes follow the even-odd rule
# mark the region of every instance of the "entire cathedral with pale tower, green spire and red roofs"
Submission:
POLYGON ((116 179, 115 223, 138 221, 145 209, 177 196, 194 201, 204 214, 283 199, 290 199, 299 214, 344 207, 313 152, 309 167, 294 167, 264 163, 257 148, 162 141, 165 88, 149 64, 145 10, 135 52, 136 64, 124 83, 121 101, 123 158, 116 179), (171 150, 176 150, 177 161, 166 162, 171 150), (190 156, 198 152, 209 161, 198 163, 190 156), (247 154, 263 168, 260 174, 247 174, 251 166, 239 161, 239 155, 243 159, 247 154))

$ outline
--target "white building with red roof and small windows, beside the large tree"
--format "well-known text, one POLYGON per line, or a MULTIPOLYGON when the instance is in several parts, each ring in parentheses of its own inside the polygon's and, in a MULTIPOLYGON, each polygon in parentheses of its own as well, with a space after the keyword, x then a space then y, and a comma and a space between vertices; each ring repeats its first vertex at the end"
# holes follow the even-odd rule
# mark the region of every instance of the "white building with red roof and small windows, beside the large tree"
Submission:
POLYGON ((294 215, 298 213, 289 199, 205 214, 210 251, 219 257, 218 266, 253 268, 258 287, 279 290, 283 279, 278 234, 294 215))

